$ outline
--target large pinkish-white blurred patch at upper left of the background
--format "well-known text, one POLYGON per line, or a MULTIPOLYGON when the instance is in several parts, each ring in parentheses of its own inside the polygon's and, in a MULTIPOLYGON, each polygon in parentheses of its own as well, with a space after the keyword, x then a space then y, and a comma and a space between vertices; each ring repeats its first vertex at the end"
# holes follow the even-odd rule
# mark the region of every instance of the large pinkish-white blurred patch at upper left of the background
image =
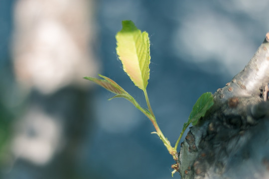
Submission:
POLYGON ((92 0, 18 0, 15 5, 14 69, 26 89, 43 93, 89 83, 98 71, 92 0))

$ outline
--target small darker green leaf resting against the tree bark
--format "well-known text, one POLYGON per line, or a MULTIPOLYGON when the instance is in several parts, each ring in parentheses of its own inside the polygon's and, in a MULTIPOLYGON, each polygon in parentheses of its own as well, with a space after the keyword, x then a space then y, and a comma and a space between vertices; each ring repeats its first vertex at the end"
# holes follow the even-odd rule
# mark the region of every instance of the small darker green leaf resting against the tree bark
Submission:
POLYGON ((190 113, 188 123, 196 125, 198 120, 203 117, 206 111, 214 104, 213 95, 211 92, 203 93, 195 102, 190 113))

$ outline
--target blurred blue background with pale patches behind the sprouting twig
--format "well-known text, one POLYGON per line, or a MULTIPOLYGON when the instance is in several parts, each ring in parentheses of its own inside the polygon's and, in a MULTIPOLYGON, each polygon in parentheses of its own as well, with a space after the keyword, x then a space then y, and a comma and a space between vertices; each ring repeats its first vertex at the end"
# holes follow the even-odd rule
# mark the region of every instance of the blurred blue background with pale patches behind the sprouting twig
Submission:
POLYGON ((171 179, 174 161, 150 121, 83 77, 105 75, 146 106, 115 50, 121 21, 133 20, 150 36, 147 91, 174 145, 196 99, 225 86, 263 42, 268 7, 268 0, 0 0, 0 178, 171 179))

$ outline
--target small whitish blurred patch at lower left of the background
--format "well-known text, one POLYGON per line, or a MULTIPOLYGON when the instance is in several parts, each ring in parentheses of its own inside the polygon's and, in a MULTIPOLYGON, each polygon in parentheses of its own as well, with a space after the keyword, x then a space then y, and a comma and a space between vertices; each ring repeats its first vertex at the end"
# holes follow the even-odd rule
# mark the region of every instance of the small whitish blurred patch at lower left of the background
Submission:
POLYGON ((62 146, 61 137, 59 120, 34 107, 16 123, 12 151, 16 158, 44 165, 62 146))

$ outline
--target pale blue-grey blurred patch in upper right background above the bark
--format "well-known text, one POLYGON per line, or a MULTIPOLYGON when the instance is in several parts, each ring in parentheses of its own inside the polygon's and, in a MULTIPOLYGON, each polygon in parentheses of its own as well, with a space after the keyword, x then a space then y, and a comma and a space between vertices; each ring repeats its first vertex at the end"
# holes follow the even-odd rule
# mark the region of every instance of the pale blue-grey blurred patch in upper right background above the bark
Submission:
MULTIPOLYGON (((217 60, 229 74, 241 71, 257 48, 236 21, 210 9, 187 14, 175 32, 173 43, 181 59, 195 63, 217 60)), ((220 69, 215 73, 219 72, 220 69)))

